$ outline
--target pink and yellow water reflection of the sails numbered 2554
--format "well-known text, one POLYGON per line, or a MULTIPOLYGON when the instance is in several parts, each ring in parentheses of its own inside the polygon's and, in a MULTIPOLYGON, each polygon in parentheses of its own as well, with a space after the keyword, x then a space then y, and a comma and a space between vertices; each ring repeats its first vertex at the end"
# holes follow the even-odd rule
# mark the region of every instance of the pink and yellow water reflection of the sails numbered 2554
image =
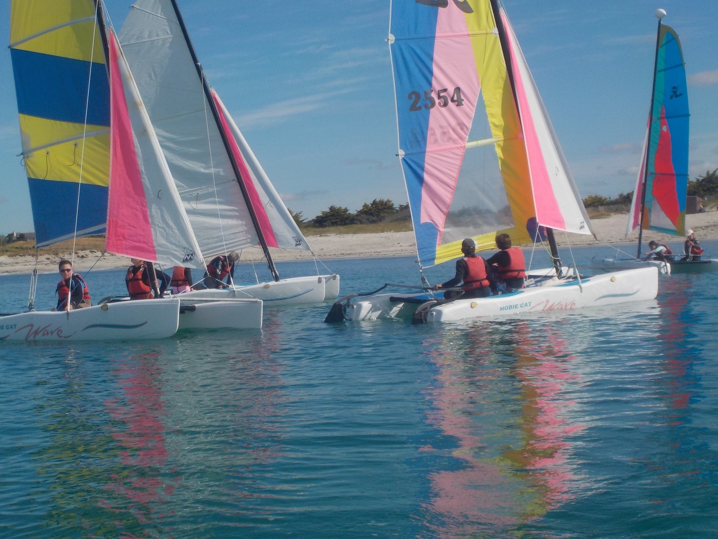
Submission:
POLYGON ((556 323, 477 323, 425 342, 438 367, 429 422, 455 443, 433 471, 426 525, 440 537, 514 528, 569 502, 577 482, 567 387, 582 384, 556 323), (445 467, 445 466, 444 466, 445 467))

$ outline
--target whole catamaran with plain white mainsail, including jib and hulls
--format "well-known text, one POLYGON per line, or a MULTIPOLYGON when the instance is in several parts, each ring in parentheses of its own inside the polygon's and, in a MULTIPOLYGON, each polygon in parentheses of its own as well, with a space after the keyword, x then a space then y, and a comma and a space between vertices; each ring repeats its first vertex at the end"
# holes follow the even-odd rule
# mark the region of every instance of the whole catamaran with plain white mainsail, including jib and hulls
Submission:
POLYGON ((336 298, 335 273, 279 278, 270 248, 311 249, 208 83, 177 2, 137 0, 120 40, 205 256, 259 245, 273 278, 182 297, 253 297, 273 306, 336 298))

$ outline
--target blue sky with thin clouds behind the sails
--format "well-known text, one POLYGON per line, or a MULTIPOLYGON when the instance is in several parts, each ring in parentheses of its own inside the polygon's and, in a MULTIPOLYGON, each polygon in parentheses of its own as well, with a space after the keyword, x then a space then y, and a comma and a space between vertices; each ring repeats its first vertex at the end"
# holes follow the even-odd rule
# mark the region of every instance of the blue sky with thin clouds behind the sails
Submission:
MULTIPOLYGON (((404 0, 411 1, 411 0, 404 0)), ((129 0, 106 0, 119 29, 129 0)), ((718 167, 717 0, 504 0, 561 146, 587 195, 635 185, 657 19, 678 32, 691 179, 718 167)), ((314 218, 406 203, 386 37, 389 0, 180 0, 205 74, 286 206, 314 218)), ((0 42, 9 43, 9 0, 0 42)), ((0 55, 0 234, 32 231, 9 49, 0 55)))

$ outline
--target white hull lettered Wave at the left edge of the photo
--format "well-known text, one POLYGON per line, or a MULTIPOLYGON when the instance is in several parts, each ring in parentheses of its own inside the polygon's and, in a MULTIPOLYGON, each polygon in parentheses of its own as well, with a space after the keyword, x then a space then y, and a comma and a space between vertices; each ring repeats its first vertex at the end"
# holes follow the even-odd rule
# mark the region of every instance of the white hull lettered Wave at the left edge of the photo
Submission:
POLYGON ((165 338, 179 327, 180 300, 106 303, 67 311, 32 311, 0 318, 0 341, 115 341, 165 338))

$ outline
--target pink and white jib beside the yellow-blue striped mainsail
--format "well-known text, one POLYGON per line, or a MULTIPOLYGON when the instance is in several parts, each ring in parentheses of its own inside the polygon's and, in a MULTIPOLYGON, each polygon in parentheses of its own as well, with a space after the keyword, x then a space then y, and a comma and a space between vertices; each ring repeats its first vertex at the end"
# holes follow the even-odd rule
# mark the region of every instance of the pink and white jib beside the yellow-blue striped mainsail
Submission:
POLYGON ((139 91, 113 30, 108 30, 111 95, 111 180, 106 249, 205 270, 139 91))

